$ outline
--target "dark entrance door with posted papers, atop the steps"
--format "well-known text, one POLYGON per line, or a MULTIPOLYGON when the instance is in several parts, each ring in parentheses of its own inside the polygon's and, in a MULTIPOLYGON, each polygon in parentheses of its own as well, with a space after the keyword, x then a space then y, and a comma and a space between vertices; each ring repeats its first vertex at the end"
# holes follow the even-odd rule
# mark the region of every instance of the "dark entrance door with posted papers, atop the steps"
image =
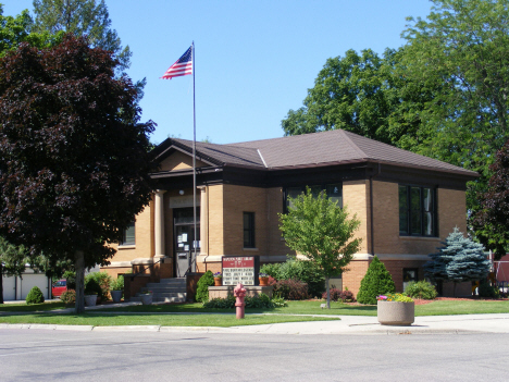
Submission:
POLYGON ((195 245, 197 254, 200 247, 200 211, 196 211, 196 234, 193 222, 193 208, 178 208, 173 210, 174 233, 175 233, 175 274, 177 278, 184 278, 185 274, 196 271, 195 245))

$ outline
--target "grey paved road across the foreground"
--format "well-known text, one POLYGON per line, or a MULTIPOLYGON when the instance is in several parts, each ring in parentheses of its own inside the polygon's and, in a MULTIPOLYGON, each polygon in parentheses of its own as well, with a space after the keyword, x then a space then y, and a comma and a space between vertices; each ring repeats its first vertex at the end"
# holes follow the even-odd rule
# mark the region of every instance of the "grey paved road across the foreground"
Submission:
POLYGON ((505 381, 509 334, 0 330, 0 381, 505 381))

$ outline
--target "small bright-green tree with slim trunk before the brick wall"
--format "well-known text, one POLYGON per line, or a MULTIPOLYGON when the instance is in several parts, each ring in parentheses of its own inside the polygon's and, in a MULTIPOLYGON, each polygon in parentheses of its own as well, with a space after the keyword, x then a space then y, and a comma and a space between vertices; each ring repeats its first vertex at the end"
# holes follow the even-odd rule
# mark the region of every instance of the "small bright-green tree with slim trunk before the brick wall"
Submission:
POLYGON ((286 245, 315 262, 325 276, 327 309, 331 308, 328 280, 343 273, 359 249, 361 239, 353 238, 360 221, 348 219, 346 208, 340 208, 325 193, 315 196, 307 193, 291 199, 288 213, 280 214, 281 231, 286 245))

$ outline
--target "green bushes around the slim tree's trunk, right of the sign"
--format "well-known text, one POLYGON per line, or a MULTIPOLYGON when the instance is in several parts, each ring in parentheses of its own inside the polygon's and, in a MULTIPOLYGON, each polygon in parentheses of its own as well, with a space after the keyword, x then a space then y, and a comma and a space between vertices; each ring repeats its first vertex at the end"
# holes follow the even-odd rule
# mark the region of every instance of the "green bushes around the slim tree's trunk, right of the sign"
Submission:
POLYGON ((308 284, 308 294, 311 297, 321 296, 325 291, 325 278, 320 267, 313 261, 290 258, 281 263, 263 264, 260 272, 275 280, 299 280, 308 284))

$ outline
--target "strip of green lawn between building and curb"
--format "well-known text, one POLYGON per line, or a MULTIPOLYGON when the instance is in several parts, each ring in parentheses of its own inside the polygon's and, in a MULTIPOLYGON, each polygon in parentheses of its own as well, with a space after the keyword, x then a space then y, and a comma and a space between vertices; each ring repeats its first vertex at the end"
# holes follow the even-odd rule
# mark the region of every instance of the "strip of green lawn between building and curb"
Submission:
MULTIPOLYGON (((40 305, 0 306, 0 322, 49 323, 74 325, 163 325, 163 326, 234 326, 278 322, 334 320, 327 316, 376 316, 376 306, 358 306, 332 303, 322 309, 323 301, 289 301, 288 307, 275 309, 247 309, 246 319, 237 320, 235 310, 204 309, 201 304, 133 306, 91 310, 84 315, 48 312, 62 309, 62 303, 40 305), (16 315, 15 312, 20 312, 16 315), (196 315, 201 313, 201 315, 196 315), (262 313, 262 315, 260 315, 262 313), (298 316, 298 315, 315 315, 298 316)), ((439 300, 415 307, 415 316, 509 313, 509 301, 439 300)))

